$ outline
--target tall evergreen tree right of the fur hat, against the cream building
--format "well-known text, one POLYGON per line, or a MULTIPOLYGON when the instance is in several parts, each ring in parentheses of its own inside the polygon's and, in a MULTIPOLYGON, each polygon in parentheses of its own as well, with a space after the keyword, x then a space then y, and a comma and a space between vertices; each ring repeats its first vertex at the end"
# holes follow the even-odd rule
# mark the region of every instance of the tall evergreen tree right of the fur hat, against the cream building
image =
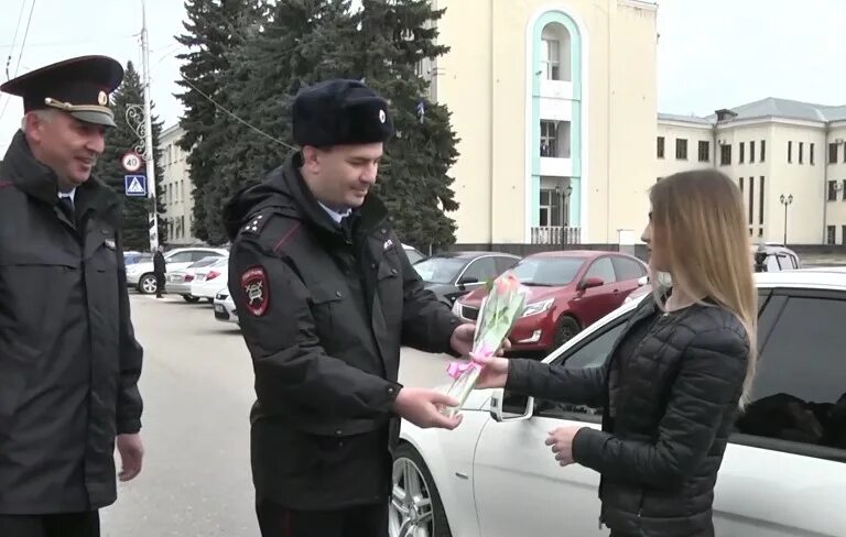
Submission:
POLYGON ((419 73, 424 58, 448 52, 435 43, 435 22, 445 10, 427 0, 362 0, 358 13, 360 78, 391 102, 397 135, 387 144, 376 191, 388 205, 402 240, 429 251, 455 242, 456 224, 445 212, 458 209, 453 178, 458 142, 449 112, 431 102, 419 73))

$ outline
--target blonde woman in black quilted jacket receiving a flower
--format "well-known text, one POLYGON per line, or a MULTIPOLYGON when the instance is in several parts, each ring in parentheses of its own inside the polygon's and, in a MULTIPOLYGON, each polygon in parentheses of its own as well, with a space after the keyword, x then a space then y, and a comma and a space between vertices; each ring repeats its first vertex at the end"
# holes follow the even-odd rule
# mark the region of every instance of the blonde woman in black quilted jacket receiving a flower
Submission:
POLYGON ((713 169, 666 177, 650 200, 650 272, 669 273, 672 291, 657 285, 605 365, 479 359, 477 387, 604 408, 601 431, 561 427, 546 445, 561 465, 601 474, 612 536, 711 536, 717 471, 755 373, 746 215, 737 186, 713 169))

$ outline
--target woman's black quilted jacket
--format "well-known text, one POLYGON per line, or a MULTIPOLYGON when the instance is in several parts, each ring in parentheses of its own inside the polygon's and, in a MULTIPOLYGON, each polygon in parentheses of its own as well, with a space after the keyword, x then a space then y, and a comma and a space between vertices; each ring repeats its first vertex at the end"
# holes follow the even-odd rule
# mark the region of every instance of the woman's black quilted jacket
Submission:
POLYGON ((601 519, 612 530, 712 536, 714 484, 737 417, 748 354, 746 331, 729 311, 695 305, 664 315, 647 298, 601 368, 512 360, 507 387, 604 408, 603 430, 582 429, 573 457, 601 474, 601 519), (655 315, 642 341, 631 347, 633 355, 618 355, 632 326, 655 315), (609 407, 616 408, 614 417, 609 407))

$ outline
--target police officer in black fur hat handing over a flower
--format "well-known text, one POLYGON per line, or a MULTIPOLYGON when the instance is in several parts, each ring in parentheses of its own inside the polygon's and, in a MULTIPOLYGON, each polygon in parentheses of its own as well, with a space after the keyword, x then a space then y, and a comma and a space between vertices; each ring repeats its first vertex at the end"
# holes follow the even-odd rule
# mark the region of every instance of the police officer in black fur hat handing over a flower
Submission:
POLYGON ((400 347, 466 355, 474 327, 425 291, 372 194, 388 103, 351 80, 302 90, 301 151, 226 208, 229 289, 252 355, 252 472, 262 535, 388 535, 399 418, 454 428, 398 384, 400 347))

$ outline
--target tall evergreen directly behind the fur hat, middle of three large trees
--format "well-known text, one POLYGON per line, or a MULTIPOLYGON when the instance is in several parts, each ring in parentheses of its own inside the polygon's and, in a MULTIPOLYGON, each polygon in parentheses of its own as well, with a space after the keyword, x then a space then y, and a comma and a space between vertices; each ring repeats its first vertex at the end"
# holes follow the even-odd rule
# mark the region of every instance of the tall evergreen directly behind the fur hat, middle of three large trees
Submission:
MULTIPOLYGON (((221 121, 226 140, 208 207, 221 207, 238 189, 260 180, 294 150, 291 106, 299 89, 322 78, 346 76, 355 55, 355 24, 349 0, 279 0, 267 24, 229 54, 229 76, 221 87, 231 117, 221 121), (258 129, 258 130, 257 130, 258 129)), ((219 211, 207 213, 208 240, 226 241, 219 211)))

